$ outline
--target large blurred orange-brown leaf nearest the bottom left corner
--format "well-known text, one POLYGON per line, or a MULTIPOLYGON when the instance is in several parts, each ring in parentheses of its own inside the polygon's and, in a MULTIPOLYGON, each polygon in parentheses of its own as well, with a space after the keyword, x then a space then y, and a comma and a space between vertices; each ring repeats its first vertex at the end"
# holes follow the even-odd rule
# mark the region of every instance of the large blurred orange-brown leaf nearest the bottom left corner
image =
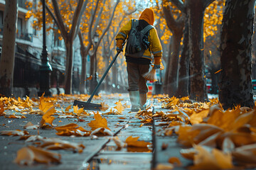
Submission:
POLYGON ((14 160, 16 164, 32 165, 33 162, 42 164, 60 163, 61 156, 53 152, 48 152, 41 148, 33 146, 23 147, 18 150, 17 157, 14 160))

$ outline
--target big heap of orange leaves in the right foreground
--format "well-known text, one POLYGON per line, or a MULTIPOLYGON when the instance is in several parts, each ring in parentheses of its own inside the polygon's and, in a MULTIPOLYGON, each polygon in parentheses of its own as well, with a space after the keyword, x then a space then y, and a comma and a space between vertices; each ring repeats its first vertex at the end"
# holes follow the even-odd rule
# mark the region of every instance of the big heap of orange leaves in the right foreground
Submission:
POLYGON ((193 160, 192 169, 256 167, 256 109, 237 106, 223 110, 217 98, 193 103, 188 98, 161 98, 164 135, 178 135, 177 142, 190 149, 181 155, 193 160))

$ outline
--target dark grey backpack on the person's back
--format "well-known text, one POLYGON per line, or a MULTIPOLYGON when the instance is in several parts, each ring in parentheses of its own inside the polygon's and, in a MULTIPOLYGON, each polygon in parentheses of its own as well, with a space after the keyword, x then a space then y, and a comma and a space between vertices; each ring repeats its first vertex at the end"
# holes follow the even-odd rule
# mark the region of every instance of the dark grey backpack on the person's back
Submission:
POLYGON ((129 31, 125 55, 129 57, 142 57, 144 51, 149 48, 149 30, 154 26, 148 25, 143 30, 138 30, 139 20, 132 19, 132 28, 129 31))

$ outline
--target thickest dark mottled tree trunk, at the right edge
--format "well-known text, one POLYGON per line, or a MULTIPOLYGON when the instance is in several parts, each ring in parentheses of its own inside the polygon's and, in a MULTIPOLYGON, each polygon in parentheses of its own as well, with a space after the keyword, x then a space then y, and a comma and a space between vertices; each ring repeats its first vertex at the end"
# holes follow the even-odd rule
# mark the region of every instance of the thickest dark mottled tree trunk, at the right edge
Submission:
POLYGON ((237 105, 253 107, 251 50, 255 0, 225 3, 220 33, 220 103, 224 109, 237 105))

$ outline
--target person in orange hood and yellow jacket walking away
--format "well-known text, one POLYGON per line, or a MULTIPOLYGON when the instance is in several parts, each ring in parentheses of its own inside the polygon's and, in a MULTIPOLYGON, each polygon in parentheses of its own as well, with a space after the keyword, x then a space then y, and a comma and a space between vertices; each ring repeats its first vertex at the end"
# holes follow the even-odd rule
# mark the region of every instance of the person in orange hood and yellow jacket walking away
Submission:
POLYGON ((116 36, 117 52, 123 50, 125 40, 125 59, 127 62, 128 91, 132 112, 145 109, 147 92, 146 79, 142 76, 149 72, 149 64, 154 56, 154 69, 160 69, 162 47, 154 28, 154 11, 146 8, 139 20, 132 19, 119 30, 116 36))

